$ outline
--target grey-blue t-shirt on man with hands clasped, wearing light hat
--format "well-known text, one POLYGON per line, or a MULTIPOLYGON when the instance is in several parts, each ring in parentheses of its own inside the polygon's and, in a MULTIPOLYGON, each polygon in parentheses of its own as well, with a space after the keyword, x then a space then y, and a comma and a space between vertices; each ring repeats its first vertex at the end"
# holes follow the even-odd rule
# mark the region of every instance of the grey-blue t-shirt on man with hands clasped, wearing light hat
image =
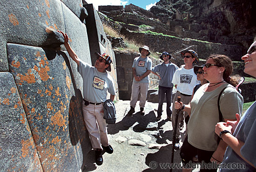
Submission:
MULTIPOLYGON (((152 60, 149 59, 149 57, 146 57, 146 58, 141 58, 141 56, 136 57, 133 61, 132 67, 135 68, 136 76, 141 76, 145 72, 147 72, 147 70, 152 69, 152 60)), ((135 81, 135 79, 133 79, 133 81, 138 82, 138 81, 135 81)), ((139 82, 140 83, 149 83, 149 75, 146 76, 145 78, 141 79, 141 81, 139 81, 139 82)))

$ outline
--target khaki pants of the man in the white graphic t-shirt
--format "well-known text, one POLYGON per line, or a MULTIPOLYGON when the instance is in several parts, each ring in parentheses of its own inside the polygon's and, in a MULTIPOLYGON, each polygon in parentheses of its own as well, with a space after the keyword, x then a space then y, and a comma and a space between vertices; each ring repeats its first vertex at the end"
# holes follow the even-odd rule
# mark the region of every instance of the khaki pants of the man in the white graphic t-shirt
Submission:
MULTIPOLYGON (((173 126, 173 129, 174 129, 174 126, 175 126, 176 111, 177 111, 177 109, 174 108, 174 105, 175 105, 175 101, 177 101, 178 96, 181 96, 181 102, 184 105, 188 105, 189 102, 190 102, 190 99, 191 99, 191 96, 184 96, 179 91, 177 91, 177 93, 175 93, 175 96, 174 96, 174 99, 173 99, 173 106, 172 106, 172 126, 173 126)), ((177 130, 176 130, 176 135, 175 135, 176 138, 181 139, 181 133, 180 133, 180 130, 179 130, 180 122, 184 120, 184 116, 186 118, 188 115, 189 115, 188 112, 185 112, 185 111, 182 111, 182 110, 179 112, 177 130)), ((186 132, 187 132, 187 125, 186 125, 186 132)))

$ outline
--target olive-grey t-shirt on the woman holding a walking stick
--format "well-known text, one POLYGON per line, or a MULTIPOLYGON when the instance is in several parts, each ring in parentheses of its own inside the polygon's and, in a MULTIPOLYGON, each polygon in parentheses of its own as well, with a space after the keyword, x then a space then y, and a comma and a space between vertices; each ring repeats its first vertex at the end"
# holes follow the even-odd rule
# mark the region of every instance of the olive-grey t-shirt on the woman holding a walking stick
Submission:
POLYGON ((236 119, 236 113, 241 114, 243 109, 243 97, 229 84, 223 84, 211 92, 205 92, 204 84, 195 92, 191 100, 191 115, 188 123, 188 141, 192 146, 215 151, 218 135, 215 133, 215 125, 219 122, 218 97, 222 89, 227 87, 220 98, 220 110, 223 119, 236 119))

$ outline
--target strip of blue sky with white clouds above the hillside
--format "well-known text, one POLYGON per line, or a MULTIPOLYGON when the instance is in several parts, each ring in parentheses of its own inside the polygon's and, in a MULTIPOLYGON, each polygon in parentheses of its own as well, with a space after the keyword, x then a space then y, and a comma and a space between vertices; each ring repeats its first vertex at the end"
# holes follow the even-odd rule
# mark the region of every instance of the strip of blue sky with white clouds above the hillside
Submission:
POLYGON ((156 2, 159 0, 85 0, 88 4, 93 3, 96 10, 98 6, 125 6, 129 4, 134 4, 135 6, 149 10, 156 2))

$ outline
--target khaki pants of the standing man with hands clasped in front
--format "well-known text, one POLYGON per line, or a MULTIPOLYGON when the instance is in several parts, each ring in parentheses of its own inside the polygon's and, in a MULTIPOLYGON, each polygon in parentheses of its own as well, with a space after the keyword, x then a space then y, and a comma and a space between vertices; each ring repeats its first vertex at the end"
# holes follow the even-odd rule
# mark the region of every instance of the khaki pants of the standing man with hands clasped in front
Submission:
POLYGON ((141 98, 140 98, 140 107, 145 106, 146 100, 147 100, 147 95, 148 95, 148 85, 149 83, 140 83, 140 82, 134 82, 132 85, 132 95, 131 95, 131 101, 130 101, 130 106, 135 107, 137 100, 138 100, 138 95, 141 91, 141 98))

